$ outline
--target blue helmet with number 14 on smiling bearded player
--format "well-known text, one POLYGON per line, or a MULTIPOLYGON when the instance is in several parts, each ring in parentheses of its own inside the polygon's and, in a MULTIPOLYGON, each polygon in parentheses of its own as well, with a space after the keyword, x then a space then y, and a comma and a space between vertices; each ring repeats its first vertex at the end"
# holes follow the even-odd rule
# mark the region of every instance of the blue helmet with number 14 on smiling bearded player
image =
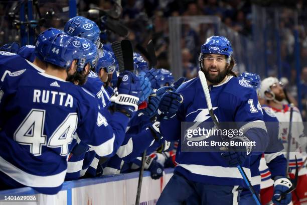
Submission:
POLYGON ((201 53, 198 58, 202 61, 206 54, 221 54, 227 57, 227 63, 230 63, 232 48, 230 41, 223 36, 211 36, 201 47, 201 53))

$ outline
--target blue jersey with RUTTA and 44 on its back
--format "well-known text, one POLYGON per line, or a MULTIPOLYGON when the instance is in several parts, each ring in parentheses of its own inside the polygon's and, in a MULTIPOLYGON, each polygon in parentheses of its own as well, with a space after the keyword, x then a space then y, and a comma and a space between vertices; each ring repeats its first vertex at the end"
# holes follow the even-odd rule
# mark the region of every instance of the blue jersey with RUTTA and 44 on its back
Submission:
POLYGON ((28 67, 6 72, 0 81, 0 171, 55 194, 64 181, 73 137, 108 155, 115 142, 122 143, 128 118, 99 110, 88 90, 28 67), (117 119, 113 126, 106 120, 112 118, 117 119))

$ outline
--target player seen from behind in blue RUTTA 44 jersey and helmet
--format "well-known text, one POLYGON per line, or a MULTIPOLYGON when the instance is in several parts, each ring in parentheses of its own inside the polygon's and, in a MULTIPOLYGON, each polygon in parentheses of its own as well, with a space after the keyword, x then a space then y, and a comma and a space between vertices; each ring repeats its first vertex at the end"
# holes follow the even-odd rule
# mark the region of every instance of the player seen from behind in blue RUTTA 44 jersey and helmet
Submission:
POLYGON ((1 77, 2 189, 30 186, 40 193, 56 194, 64 181, 74 137, 100 156, 122 143, 137 107, 138 79, 128 72, 121 75, 118 96, 128 97, 128 102, 116 99, 112 115, 99 110, 89 91, 66 81, 77 71, 89 71, 83 49, 79 37, 57 34, 36 43, 45 72, 20 63, 23 70, 1 77), (106 119, 112 120, 107 123, 106 119))

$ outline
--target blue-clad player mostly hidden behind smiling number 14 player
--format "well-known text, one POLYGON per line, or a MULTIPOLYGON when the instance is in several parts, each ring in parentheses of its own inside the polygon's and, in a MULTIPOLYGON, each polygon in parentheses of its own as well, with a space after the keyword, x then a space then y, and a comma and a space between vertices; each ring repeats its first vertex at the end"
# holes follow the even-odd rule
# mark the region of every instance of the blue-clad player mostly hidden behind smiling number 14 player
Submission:
MULTIPOLYGON (((240 80, 244 80, 249 83, 253 88, 259 92, 261 79, 260 76, 254 73, 244 72, 239 76, 240 80)), ((267 161, 267 166, 271 172, 271 178, 275 181, 274 183, 274 193, 276 196, 273 197, 273 202, 276 205, 288 204, 291 201, 291 193, 286 194, 286 197, 281 200, 276 200, 279 198, 280 193, 286 191, 290 186, 291 182, 286 177, 286 164, 287 160, 282 154, 283 145, 279 138, 279 125, 276 116, 270 112, 268 109, 262 108, 263 120, 266 123, 266 129, 268 134, 268 146, 267 151, 264 152, 265 159, 267 161), (283 181, 283 183, 281 183, 283 181)), ((260 159, 262 153, 259 155, 253 155, 250 159, 251 164, 251 184, 257 194, 260 194, 260 182, 261 176, 259 172, 260 159)), ((261 198, 261 197, 260 197, 261 198)), ((256 204, 252 194, 248 189, 243 189, 240 196, 240 205, 256 204)))

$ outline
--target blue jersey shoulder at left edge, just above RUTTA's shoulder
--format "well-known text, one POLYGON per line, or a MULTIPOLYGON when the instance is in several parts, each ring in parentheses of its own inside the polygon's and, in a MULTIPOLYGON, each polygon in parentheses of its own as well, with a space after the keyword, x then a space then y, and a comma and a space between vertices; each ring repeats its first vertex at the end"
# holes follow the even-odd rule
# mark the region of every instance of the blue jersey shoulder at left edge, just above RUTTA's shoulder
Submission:
POLYGON ((0 77, 2 77, 5 72, 15 72, 26 68, 38 72, 44 72, 43 69, 16 53, 0 51, 0 77))

